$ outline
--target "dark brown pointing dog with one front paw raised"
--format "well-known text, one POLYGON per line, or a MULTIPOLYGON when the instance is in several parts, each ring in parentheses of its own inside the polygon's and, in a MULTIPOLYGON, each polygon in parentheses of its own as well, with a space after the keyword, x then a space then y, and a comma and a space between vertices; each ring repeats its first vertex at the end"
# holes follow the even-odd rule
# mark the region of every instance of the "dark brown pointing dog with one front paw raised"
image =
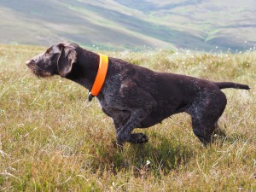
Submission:
MULTIPOLYGON (((60 75, 91 90, 100 60, 100 55, 78 44, 61 43, 26 61, 26 66, 39 78, 60 75)), ((96 98, 102 111, 113 119, 119 146, 125 142, 147 143, 145 134, 131 132, 183 112, 189 113, 195 136, 207 146, 227 103, 221 89, 250 89, 247 84, 158 73, 112 57, 108 58, 107 70, 96 98)))

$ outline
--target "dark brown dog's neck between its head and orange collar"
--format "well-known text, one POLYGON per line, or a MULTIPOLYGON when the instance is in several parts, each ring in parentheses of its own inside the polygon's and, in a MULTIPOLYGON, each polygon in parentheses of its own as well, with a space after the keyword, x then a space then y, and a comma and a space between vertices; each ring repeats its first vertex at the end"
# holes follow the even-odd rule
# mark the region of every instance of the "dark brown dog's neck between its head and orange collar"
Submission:
POLYGON ((96 79, 100 56, 81 48, 77 52, 77 62, 73 66, 72 73, 68 74, 66 78, 91 90, 96 79))

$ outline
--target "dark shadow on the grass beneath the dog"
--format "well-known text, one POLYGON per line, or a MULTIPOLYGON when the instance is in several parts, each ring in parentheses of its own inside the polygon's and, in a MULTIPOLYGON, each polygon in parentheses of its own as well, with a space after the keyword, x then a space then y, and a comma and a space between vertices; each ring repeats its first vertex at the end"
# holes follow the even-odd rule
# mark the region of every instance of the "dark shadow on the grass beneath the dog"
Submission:
POLYGON ((192 156, 193 150, 188 145, 161 137, 157 143, 153 141, 145 144, 125 143, 123 150, 108 148, 101 159, 105 162, 105 170, 107 163, 110 172, 132 169, 135 175, 141 176, 149 173, 167 174, 181 165, 188 164, 192 156))

